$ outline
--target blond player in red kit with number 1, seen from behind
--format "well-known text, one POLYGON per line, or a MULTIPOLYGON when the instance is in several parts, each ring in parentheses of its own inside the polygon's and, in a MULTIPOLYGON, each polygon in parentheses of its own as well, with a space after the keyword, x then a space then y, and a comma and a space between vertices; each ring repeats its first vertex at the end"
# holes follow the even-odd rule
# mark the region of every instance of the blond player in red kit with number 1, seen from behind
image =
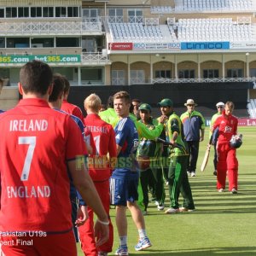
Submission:
POLYGON ((84 109, 87 116, 84 119, 84 131, 86 140, 90 141, 90 147, 92 148, 88 160, 90 177, 100 195, 103 207, 108 213, 109 239, 102 246, 96 247, 93 210, 88 207, 89 219, 79 227, 81 247, 86 256, 108 255, 112 252, 113 247, 113 225, 109 217, 109 177, 115 165, 117 149, 112 125, 102 121, 98 115, 101 105, 102 101, 96 94, 91 94, 85 98, 84 109))

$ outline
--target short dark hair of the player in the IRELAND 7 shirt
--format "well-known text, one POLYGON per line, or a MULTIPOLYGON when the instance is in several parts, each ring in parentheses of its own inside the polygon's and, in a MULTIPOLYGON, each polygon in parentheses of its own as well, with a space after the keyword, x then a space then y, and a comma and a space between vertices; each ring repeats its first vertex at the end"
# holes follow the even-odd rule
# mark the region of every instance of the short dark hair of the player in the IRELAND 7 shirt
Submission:
POLYGON ((42 61, 27 62, 20 69, 20 84, 25 93, 45 95, 52 83, 52 70, 42 61))

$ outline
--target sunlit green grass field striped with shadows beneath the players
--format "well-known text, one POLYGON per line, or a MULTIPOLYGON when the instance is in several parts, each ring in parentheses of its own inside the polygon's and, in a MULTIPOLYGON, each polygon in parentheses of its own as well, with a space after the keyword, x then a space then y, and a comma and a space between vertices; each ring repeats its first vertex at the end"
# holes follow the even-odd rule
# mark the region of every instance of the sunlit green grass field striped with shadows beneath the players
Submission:
MULTIPOLYGON (((243 144, 237 149, 239 160, 237 195, 217 192, 216 177, 212 175, 213 150, 206 171, 199 170, 207 147, 206 140, 201 143, 197 176, 189 177, 196 211, 166 215, 157 211, 153 203, 149 204, 145 220, 153 247, 143 252, 136 252, 134 249, 138 236, 129 214, 129 255, 256 255, 255 131, 255 127, 239 127, 239 132, 243 134, 243 144)), ((206 135, 208 136, 208 131, 206 135)), ((168 199, 168 195, 166 198, 168 199)), ((169 199, 166 200, 166 205, 168 204, 169 199)), ((111 217, 114 225, 113 210, 111 217)), ((118 244, 115 229, 113 251, 118 244)), ((79 255, 83 255, 80 250, 79 255)), ((114 252, 109 255, 114 255, 114 252)))

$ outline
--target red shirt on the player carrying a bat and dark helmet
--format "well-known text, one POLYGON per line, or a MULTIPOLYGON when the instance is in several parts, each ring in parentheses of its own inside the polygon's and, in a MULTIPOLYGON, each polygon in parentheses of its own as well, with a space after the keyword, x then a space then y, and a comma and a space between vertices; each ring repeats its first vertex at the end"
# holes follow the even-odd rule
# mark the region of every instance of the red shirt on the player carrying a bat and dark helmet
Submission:
POLYGON ((233 115, 223 113, 213 124, 213 131, 218 127, 218 141, 229 142, 237 133, 238 119, 233 115))

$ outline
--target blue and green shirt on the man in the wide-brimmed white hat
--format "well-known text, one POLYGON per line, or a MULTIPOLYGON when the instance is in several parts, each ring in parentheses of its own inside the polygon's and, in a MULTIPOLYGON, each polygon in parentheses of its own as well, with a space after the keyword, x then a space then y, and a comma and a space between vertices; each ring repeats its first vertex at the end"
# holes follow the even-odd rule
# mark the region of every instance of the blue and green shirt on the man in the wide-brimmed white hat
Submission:
POLYGON ((199 141, 200 130, 206 128, 206 121, 202 114, 195 110, 192 113, 187 111, 180 116, 180 119, 183 123, 185 141, 199 141))

